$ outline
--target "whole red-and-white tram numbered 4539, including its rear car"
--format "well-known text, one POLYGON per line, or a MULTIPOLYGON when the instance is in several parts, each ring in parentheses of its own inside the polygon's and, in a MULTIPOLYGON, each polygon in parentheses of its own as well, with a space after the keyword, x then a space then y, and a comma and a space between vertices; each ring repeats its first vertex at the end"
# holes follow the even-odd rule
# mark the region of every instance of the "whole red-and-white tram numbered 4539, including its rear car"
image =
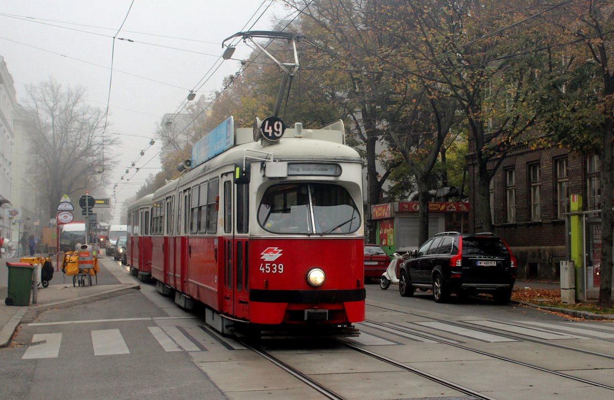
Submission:
POLYGON ((181 177, 130 206, 130 264, 180 306, 203 303, 221 333, 356 334, 362 161, 341 121, 285 129, 270 118, 236 131, 228 118, 194 145, 181 177))

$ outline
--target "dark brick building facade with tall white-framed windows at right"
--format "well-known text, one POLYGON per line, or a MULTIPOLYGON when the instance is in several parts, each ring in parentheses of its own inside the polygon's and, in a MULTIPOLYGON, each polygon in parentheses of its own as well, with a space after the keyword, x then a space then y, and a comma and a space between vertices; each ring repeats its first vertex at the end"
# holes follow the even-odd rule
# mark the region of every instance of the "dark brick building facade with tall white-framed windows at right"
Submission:
MULTIPOLYGON (((478 165, 467 157, 470 232, 481 230, 480 201, 476 196, 478 165)), ((490 202, 494 232, 511 247, 518 261, 518 277, 556 279, 561 260, 567 260, 565 221, 569 196, 580 194, 583 210, 599 210, 599 163, 596 156, 580 156, 565 149, 531 150, 519 145, 503 160, 491 180, 490 202)))

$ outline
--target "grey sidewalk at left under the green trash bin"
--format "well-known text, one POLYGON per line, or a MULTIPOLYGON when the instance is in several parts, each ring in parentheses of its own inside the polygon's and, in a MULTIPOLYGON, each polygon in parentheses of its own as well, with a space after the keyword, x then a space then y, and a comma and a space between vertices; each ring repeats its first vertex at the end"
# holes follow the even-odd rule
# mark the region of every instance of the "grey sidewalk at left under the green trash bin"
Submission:
MULTIPOLYGON (((19 259, 0 258, 0 268, 6 270, 7 262, 18 263, 19 259)), ((98 266, 100 269, 97 277, 98 284, 96 284, 96 277, 92 277, 91 287, 73 287, 72 276, 64 276, 61 271, 53 272, 53 279, 49 281, 49 286, 43 288, 39 285, 37 302, 36 304, 31 303, 29 307, 4 304, 4 299, 7 296, 7 280, 6 274, 4 274, 4 280, 0 281, 0 347, 5 347, 10 343, 15 329, 28 311, 38 313, 51 307, 70 307, 98 299, 119 296, 128 290, 141 289, 141 285, 117 261, 101 256, 98 266)))

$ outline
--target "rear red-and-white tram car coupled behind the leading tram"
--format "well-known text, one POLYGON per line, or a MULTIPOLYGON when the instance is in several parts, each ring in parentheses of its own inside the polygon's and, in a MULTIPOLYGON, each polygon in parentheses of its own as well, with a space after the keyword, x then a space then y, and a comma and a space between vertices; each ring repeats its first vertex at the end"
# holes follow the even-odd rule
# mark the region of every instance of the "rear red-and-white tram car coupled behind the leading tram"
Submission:
POLYGON ((152 272, 152 198, 153 194, 147 194, 128 207, 126 263, 141 280, 149 279, 152 272))

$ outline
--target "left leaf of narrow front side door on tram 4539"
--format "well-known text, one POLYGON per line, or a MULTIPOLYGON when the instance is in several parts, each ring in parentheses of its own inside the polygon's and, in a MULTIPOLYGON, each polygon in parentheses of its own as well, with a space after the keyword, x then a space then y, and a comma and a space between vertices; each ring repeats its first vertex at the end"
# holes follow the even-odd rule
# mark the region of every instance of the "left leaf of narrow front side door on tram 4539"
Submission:
POLYGON ((233 228, 233 182, 230 174, 222 175, 222 212, 223 212, 223 311, 235 315, 234 276, 235 263, 235 229, 233 228))

